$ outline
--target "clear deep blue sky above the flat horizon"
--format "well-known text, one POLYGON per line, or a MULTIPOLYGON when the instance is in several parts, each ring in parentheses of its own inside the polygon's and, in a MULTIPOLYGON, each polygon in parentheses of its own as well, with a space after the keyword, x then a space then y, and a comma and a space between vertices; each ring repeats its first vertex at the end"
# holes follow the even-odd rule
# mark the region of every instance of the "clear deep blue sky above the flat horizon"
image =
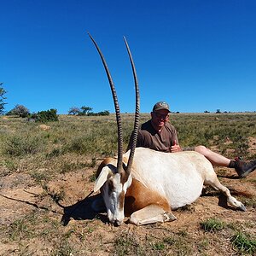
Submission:
POLYGON ((113 112, 105 56, 122 113, 134 111, 128 40, 141 112, 255 111, 256 1, 0 0, 0 82, 6 110, 113 112))

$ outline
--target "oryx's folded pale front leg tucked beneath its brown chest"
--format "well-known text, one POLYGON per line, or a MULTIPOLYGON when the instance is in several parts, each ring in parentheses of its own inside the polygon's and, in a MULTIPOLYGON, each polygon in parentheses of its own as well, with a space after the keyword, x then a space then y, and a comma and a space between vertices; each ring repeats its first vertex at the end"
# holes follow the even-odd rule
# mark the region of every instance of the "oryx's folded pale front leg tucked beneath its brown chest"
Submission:
POLYGON ((157 205, 149 205, 131 214, 130 223, 136 225, 167 222, 177 219, 172 212, 166 212, 157 205))

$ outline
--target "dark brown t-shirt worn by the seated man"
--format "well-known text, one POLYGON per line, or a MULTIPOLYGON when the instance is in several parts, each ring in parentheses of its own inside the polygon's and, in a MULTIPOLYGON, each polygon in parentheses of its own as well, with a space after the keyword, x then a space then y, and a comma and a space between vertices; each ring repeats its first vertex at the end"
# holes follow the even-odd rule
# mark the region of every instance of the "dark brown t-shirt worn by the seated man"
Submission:
POLYGON ((155 131, 151 120, 148 120, 138 131, 137 147, 171 152, 170 148, 174 144, 174 141, 178 144, 177 131, 173 125, 166 122, 161 131, 155 131))

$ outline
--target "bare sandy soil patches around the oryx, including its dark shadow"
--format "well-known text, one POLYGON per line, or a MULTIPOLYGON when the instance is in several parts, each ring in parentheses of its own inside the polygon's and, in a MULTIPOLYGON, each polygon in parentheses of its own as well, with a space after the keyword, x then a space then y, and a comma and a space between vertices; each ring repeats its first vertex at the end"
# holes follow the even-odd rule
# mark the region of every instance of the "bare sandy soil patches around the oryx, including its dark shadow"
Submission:
MULTIPOLYGON (((241 198, 255 198, 256 172, 251 173, 244 179, 238 179, 236 172, 233 170, 215 168, 215 171, 218 173, 221 183, 233 191, 233 195, 237 196, 237 193, 243 192, 244 194, 241 198)), ((108 243, 113 239, 116 232, 130 232, 129 230, 135 232, 134 234, 136 234, 136 236, 145 237, 148 232, 152 230, 154 230, 155 234, 161 232, 166 236, 165 232, 170 232, 170 230, 175 232, 182 229, 187 230, 189 234, 193 234, 196 239, 199 233, 200 222, 207 218, 221 218, 226 222, 237 223, 247 221, 256 224, 256 212, 254 207, 247 207, 247 212, 236 211, 226 205, 223 196, 210 189, 206 190, 204 195, 190 206, 189 210, 175 211, 174 214, 177 220, 172 223, 160 224, 160 226, 157 226, 157 229, 155 226, 136 227, 131 224, 123 224, 118 228, 113 228, 108 224, 104 212, 97 215, 91 208, 91 202, 98 196, 94 194, 90 195, 94 186, 94 183, 90 182, 90 176, 93 172, 95 172, 95 169, 87 169, 85 172, 69 172, 56 177, 55 181, 49 182, 48 187, 50 191, 57 193, 63 190, 65 193, 64 200, 60 201, 60 205, 52 201, 49 196, 42 196, 44 194, 42 187, 33 185, 33 180, 29 175, 16 172, 12 175, 1 177, 0 227, 4 228, 14 223, 15 220, 25 217, 28 212, 32 212, 35 209, 47 212, 49 218, 55 218, 58 222, 62 223, 63 232, 74 225, 85 224, 95 219, 97 216, 97 219, 94 221, 97 234, 86 238, 87 242, 92 245, 95 244, 95 237, 98 237, 99 234, 101 234, 102 237, 101 242, 108 243)), ((253 233, 255 235, 255 232, 255 229, 250 230, 251 234, 253 233)), ((2 233, 0 235, 1 255, 11 254, 10 252, 14 252, 17 245, 14 241, 3 241, 3 236, 4 234, 2 233)), ((34 241, 31 242, 34 244, 33 247, 40 247, 40 245, 34 241)), ((31 247, 32 244, 30 245, 31 247)), ((34 253, 33 255, 46 255, 45 252, 46 251, 42 254, 34 253)), ((81 253, 81 255, 86 254, 87 253, 81 253)), ((21 254, 13 253, 11 255, 21 254)), ((94 255, 94 253, 90 251, 88 255, 94 255)), ((108 255, 108 247, 98 250, 96 255, 108 255)), ((209 255, 211 255, 211 253, 209 253, 209 255)), ((214 252, 212 255, 214 255, 214 252)), ((220 253, 220 255, 222 255, 222 253, 220 253)))

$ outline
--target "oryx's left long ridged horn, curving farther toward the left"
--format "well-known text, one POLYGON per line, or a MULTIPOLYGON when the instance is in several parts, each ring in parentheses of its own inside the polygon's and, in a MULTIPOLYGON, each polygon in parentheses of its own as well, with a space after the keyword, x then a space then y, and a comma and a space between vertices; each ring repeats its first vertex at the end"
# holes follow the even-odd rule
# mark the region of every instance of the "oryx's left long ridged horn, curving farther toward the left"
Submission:
POLYGON ((109 73, 108 70, 108 65, 107 62, 104 59, 104 56, 102 55, 101 49, 98 47, 96 44, 96 41, 90 36, 90 33, 88 33, 90 39, 92 40, 93 44, 95 44, 96 49, 101 56, 103 66, 105 68, 105 71, 108 76, 108 82, 112 91, 112 96, 113 96, 113 103, 114 103, 114 108, 115 108, 115 115, 116 115, 116 121, 118 125, 118 164, 117 164, 117 171, 121 172, 122 166, 123 166, 123 131, 122 131, 122 124, 121 124, 121 114, 119 110, 119 102, 118 102, 118 97, 116 95, 116 91, 113 85, 113 79, 109 73))

